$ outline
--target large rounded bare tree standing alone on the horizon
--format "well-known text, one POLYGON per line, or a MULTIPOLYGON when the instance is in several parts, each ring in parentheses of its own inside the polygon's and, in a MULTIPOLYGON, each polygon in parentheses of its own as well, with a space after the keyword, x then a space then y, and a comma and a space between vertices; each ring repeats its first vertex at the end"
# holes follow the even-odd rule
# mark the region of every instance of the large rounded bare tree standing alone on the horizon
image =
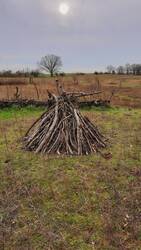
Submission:
POLYGON ((56 55, 46 55, 41 58, 39 62, 39 67, 41 70, 49 72, 51 77, 57 73, 62 67, 62 61, 59 56, 56 55))

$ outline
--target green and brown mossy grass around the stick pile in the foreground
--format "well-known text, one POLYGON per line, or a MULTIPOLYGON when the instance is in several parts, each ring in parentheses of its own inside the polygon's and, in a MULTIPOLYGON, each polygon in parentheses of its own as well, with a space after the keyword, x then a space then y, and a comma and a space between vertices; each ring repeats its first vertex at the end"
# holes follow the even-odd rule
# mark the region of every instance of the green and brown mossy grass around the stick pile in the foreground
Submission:
POLYGON ((141 109, 81 110, 109 138, 109 160, 25 152, 43 111, 0 111, 0 249, 141 250, 141 109))

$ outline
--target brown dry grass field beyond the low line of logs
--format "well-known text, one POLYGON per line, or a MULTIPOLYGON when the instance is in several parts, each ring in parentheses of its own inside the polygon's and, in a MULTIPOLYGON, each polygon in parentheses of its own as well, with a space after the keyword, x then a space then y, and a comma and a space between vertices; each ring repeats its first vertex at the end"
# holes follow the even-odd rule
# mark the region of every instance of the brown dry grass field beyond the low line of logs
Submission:
MULTIPOLYGON (((59 78, 65 90, 85 92, 91 92, 95 89, 97 79, 101 84, 102 94, 96 96, 96 98, 108 99, 111 96, 111 92, 119 89, 120 86, 120 89, 112 99, 112 105, 141 108, 141 76, 86 74, 75 77, 73 75, 66 75, 59 78)), ((13 99, 16 86, 19 86, 20 97, 25 99, 46 100, 47 89, 51 92, 56 92, 55 78, 34 78, 33 83, 29 84, 28 78, 1 78, 0 100, 13 99), (9 85, 8 83, 11 82, 12 84, 9 85), (21 84, 21 82, 25 84, 21 84)))

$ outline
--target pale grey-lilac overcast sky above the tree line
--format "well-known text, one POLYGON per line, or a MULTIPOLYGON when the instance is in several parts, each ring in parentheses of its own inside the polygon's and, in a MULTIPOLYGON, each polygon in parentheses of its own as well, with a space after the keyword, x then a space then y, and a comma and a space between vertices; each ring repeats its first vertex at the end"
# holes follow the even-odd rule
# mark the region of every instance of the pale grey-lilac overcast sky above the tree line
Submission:
POLYGON ((140 12, 141 0, 0 0, 0 70, 36 69, 47 54, 65 72, 141 63, 140 12))

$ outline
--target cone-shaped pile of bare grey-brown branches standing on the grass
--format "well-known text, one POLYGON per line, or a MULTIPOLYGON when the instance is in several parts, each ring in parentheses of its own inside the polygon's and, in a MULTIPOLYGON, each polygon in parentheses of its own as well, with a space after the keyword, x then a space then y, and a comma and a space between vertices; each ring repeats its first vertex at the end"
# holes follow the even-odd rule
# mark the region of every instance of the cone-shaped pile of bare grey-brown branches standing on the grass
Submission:
POLYGON ((49 92, 48 95, 49 109, 34 122, 24 137, 26 150, 44 154, 88 155, 106 147, 105 137, 77 108, 77 99, 91 94, 62 91, 58 97, 49 92))

